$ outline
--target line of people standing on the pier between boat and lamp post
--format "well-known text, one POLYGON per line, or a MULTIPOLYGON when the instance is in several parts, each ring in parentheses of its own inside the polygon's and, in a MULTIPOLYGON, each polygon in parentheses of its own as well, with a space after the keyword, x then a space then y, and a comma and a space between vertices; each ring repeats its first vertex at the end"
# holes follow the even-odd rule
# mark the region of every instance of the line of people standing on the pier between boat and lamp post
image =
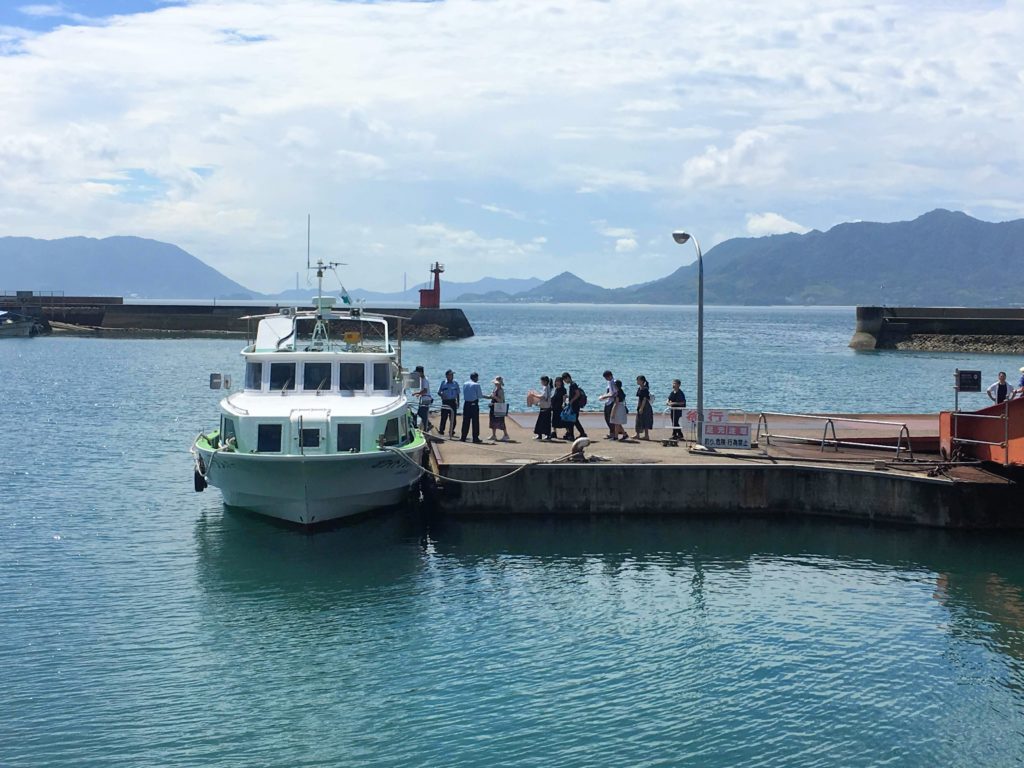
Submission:
MULTIPOLYGON (((429 432, 433 429, 430 423, 430 407, 434 393, 431 391, 429 379, 423 366, 417 366, 418 385, 413 395, 418 398, 415 420, 420 429, 429 432)), ((608 433, 605 439, 628 440, 627 426, 630 410, 627 406, 627 395, 621 379, 616 379, 611 371, 603 374, 605 391, 598 397, 604 407, 604 422, 608 433)), ((638 440, 649 440, 650 430, 654 428, 654 407, 651 400, 650 384, 645 376, 636 377, 636 411, 633 420, 633 437, 638 440)), ((495 442, 511 440, 505 420, 508 417, 508 400, 505 394, 505 380, 496 376, 490 382, 488 394, 480 384, 480 376, 475 371, 463 384, 455 380, 455 372, 451 369, 444 372, 444 380, 436 392, 440 399, 440 422, 438 431, 441 436, 455 439, 458 426, 459 410, 462 408, 462 429, 459 439, 466 442, 481 443, 480 439, 480 400, 488 402, 487 427, 490 439, 495 442), (499 432, 501 436, 499 437, 499 432)), ((539 388, 531 389, 526 397, 528 406, 537 406, 538 416, 534 425, 535 440, 574 440, 577 437, 587 437, 587 431, 581 423, 580 414, 588 403, 587 392, 567 371, 554 378, 540 377, 539 388), (559 430, 562 434, 559 435, 559 430)), ((665 400, 672 419, 672 437, 681 439, 683 431, 680 419, 686 408, 686 395, 679 379, 672 382, 672 391, 665 400)))

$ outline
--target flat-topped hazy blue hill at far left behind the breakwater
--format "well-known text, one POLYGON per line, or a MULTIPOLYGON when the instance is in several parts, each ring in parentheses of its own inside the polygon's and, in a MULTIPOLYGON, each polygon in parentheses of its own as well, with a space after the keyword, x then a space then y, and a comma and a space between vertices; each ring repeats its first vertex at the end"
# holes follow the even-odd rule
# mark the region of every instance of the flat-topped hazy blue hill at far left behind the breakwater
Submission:
POLYGON ((258 296, 177 246, 143 238, 0 238, 0 290, 153 299, 258 296))

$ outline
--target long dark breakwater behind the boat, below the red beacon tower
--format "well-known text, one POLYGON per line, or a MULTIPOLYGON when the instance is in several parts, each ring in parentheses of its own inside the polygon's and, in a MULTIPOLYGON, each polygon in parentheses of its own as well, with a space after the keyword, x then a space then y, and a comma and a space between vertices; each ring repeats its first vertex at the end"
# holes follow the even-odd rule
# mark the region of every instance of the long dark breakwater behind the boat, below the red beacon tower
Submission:
MULTIPOLYGON (((0 309, 15 309, 47 321, 57 330, 98 336, 187 337, 252 335, 255 321, 247 316, 272 314, 294 303, 252 305, 131 304, 121 297, 33 296, 0 297, 0 309)), ((299 307, 303 308, 303 307, 299 307)), ((306 306, 305 308, 309 308, 306 306)), ((366 307, 368 312, 388 315, 390 332, 413 340, 464 339, 473 327, 462 309, 417 307, 366 307)))

